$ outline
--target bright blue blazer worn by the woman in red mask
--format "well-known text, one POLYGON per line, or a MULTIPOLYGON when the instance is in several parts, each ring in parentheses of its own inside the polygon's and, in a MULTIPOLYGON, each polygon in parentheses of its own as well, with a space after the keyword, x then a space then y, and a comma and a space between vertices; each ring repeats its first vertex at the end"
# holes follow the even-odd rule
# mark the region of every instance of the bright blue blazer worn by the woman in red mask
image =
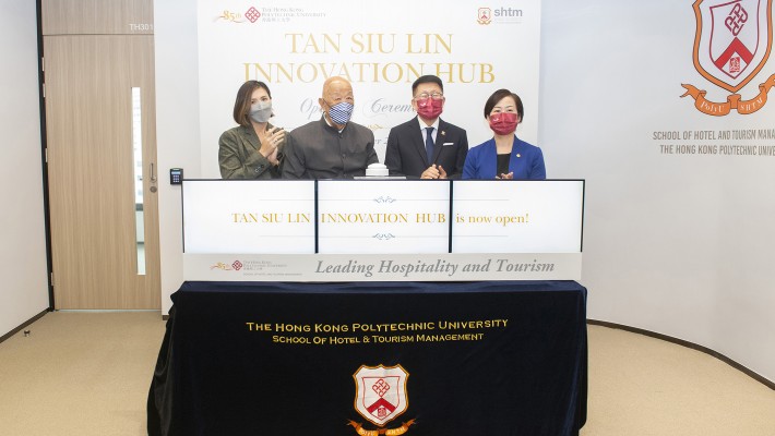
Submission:
MULTIPOLYGON (((491 138, 468 150, 463 166, 463 179, 494 179, 497 170, 496 140, 491 138)), ((511 158, 509 159, 509 172, 514 173, 514 179, 546 179, 541 149, 514 135, 514 145, 511 147, 511 158)))

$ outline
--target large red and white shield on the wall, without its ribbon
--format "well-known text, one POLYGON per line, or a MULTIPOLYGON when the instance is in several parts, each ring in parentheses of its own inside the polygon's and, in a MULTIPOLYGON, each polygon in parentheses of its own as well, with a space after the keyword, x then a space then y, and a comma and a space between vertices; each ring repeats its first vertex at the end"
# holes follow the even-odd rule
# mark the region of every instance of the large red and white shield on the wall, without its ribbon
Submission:
POLYGON ((764 66, 772 47, 773 0, 698 0, 694 66, 737 93, 764 66))

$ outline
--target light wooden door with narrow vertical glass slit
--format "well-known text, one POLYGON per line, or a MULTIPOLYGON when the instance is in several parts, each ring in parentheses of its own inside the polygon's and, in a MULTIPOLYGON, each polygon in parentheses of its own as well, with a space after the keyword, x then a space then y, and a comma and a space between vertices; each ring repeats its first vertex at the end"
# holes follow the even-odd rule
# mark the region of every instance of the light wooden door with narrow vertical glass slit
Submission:
POLYGON ((45 35, 44 65, 55 307, 159 308, 153 35, 45 35))

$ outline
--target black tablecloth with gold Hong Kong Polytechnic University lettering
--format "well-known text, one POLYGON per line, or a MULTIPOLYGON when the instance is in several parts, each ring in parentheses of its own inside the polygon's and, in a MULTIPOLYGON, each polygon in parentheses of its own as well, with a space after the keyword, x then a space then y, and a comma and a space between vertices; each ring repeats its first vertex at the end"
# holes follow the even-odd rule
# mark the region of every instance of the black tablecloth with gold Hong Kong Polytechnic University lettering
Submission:
POLYGON ((172 302, 150 435, 563 436, 586 420, 573 281, 186 282, 172 302), (379 385, 357 388, 361 367, 408 374, 379 380, 381 417, 362 413, 379 385))

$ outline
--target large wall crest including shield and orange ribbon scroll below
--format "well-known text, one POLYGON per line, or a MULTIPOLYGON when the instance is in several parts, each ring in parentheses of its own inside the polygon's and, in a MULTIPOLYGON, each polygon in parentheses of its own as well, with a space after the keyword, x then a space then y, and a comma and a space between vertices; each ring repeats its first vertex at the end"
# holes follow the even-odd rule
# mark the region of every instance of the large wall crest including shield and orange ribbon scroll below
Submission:
POLYGON ((693 4, 696 33, 692 57, 696 71, 713 85, 731 93, 727 101, 705 98, 704 89, 682 84, 698 110, 723 117, 758 111, 767 102, 775 74, 759 85, 759 94, 743 100, 738 90, 764 68, 773 44, 773 0, 696 0, 693 4))

